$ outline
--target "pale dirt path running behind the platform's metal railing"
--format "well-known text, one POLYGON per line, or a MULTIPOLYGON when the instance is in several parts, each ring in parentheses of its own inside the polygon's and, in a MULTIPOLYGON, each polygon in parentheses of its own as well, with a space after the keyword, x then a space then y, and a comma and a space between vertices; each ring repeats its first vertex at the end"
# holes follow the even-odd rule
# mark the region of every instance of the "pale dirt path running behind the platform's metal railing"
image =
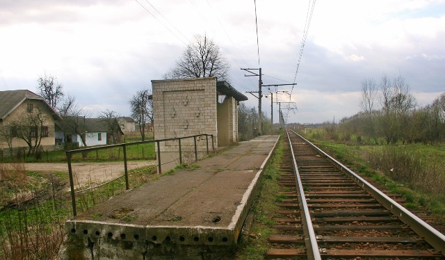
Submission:
MULTIPOLYGON (((65 172, 68 176, 67 163, 25 163, 26 170, 39 172, 65 172)), ((124 174, 123 162, 107 163, 72 163, 74 186, 100 184, 124 174)), ((147 165, 156 165, 156 161, 128 161, 127 168, 132 170, 147 165)))

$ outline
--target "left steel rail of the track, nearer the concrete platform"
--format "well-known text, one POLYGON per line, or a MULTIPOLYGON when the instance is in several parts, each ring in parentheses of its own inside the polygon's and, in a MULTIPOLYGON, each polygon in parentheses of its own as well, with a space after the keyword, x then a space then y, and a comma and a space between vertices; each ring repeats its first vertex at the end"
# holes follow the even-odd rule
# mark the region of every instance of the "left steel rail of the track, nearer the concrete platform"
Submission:
POLYGON ((305 191, 300 179, 300 172, 298 172, 297 162, 295 159, 295 154, 293 153, 293 147, 291 142, 291 137, 289 132, 286 130, 287 139, 289 140, 289 148, 291 149, 293 172, 296 175, 296 188, 298 191, 298 202, 300 202, 300 212, 303 231, 305 233, 305 244, 307 259, 321 259, 320 250, 318 249, 317 238, 315 235, 314 227, 312 226, 311 216, 309 214, 309 208, 306 203, 305 191))

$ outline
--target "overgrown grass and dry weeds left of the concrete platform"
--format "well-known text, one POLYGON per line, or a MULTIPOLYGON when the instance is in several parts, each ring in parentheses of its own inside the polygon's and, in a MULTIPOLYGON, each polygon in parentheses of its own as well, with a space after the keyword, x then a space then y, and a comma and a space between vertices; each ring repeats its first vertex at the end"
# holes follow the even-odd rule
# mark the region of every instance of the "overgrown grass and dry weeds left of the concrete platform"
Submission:
MULTIPOLYGON (((151 168, 140 168, 129 174, 129 184, 136 188, 159 177, 151 168)), ((72 216, 66 190, 67 174, 29 172, 20 163, 0 164, 0 259, 56 257, 65 235, 63 225, 72 216)), ((124 191, 121 179, 88 190, 78 194, 77 209, 84 211, 124 191)), ((131 222, 134 217, 122 220, 131 222)))

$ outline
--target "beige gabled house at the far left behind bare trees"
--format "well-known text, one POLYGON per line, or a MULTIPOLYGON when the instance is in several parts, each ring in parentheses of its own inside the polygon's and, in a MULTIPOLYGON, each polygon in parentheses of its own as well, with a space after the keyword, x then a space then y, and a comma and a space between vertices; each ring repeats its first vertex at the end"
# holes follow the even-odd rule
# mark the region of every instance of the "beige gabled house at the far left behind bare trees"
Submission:
POLYGON ((52 150, 55 122, 60 116, 43 97, 29 90, 0 91, 0 149, 52 150))

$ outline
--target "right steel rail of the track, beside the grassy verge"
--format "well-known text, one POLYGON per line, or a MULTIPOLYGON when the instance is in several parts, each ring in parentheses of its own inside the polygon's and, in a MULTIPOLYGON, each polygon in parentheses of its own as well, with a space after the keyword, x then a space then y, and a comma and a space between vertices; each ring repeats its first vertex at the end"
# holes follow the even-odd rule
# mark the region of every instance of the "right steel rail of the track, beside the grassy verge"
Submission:
MULTIPOLYGON (((300 136, 300 134, 296 133, 295 131, 292 132, 295 133, 297 136, 300 136)), ((425 241, 427 241, 432 247, 434 247, 435 250, 437 250, 440 254, 445 256, 444 234, 440 233, 437 229, 431 227, 430 225, 428 225, 428 223, 421 220, 419 217, 415 216, 413 213, 411 213, 403 206, 401 206, 401 204, 398 204, 397 202, 392 200, 385 193, 382 193, 380 190, 378 190, 378 188, 375 188, 372 184, 370 184, 368 181, 360 177, 358 174, 347 168, 345 165, 343 165, 336 159, 332 158, 332 156, 323 152, 323 150, 316 147, 316 145, 309 142, 309 140, 307 140, 302 136, 300 136, 300 138, 305 140, 305 142, 314 147, 314 149, 320 152, 327 159, 332 161, 332 163, 338 165, 343 172, 346 172, 347 174, 350 175, 350 177, 353 177, 353 180, 357 184, 362 186, 362 188, 364 188, 366 191, 368 191, 375 198, 375 200, 378 200, 378 202, 380 202, 383 206, 385 206, 386 209, 391 211, 391 213, 393 213, 394 216, 397 216, 402 222, 408 225, 419 236, 423 237, 423 239, 425 239, 425 241)))

